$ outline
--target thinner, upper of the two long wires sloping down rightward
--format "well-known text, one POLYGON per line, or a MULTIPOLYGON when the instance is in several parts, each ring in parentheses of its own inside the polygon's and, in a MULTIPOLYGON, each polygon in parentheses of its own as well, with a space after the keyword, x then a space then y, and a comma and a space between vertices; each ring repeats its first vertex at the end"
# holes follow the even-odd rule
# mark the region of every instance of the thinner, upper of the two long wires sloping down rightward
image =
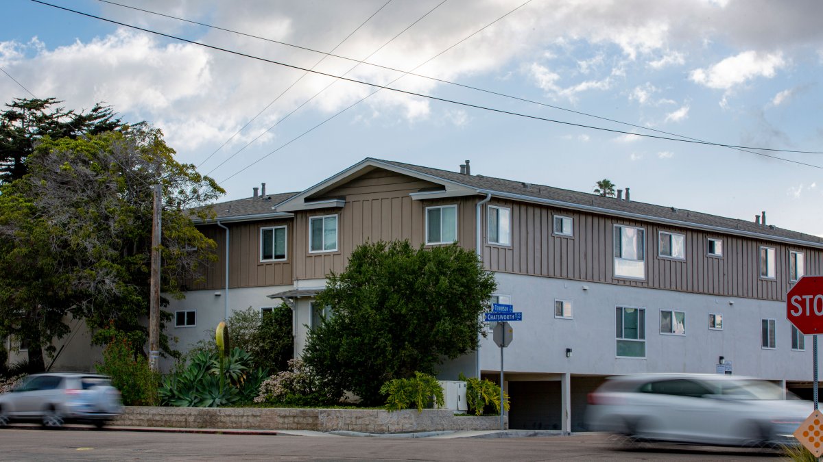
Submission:
MULTIPOLYGON (((316 50, 316 49, 311 49, 309 47, 300 46, 300 45, 296 45, 296 44, 290 44, 290 43, 287 43, 287 42, 283 42, 281 40, 268 39, 266 37, 261 37, 261 36, 258 36, 258 35, 246 34, 244 32, 240 32, 238 30, 231 30, 231 29, 227 29, 227 28, 220 27, 220 26, 217 26, 217 25, 210 25, 210 24, 203 23, 203 22, 192 21, 192 20, 188 20, 188 19, 185 19, 185 18, 181 18, 179 16, 168 15, 168 14, 165 14, 165 13, 153 12, 151 10, 146 10, 146 9, 143 9, 143 8, 138 8, 138 7, 133 7, 133 6, 130 6, 130 5, 125 5, 123 3, 112 2, 110 0, 98 0, 98 2, 109 3, 111 5, 115 5, 115 6, 118 6, 118 7, 129 8, 129 9, 133 9, 133 10, 140 11, 140 12, 146 12, 146 13, 150 13, 150 14, 156 15, 156 16, 163 16, 163 17, 166 17, 166 18, 169 18, 169 19, 174 19, 176 21, 188 22, 189 24, 202 25, 204 27, 215 29, 215 30, 223 30, 223 31, 226 31, 226 32, 230 32, 230 33, 237 34, 237 35, 243 35, 245 37, 249 37, 249 38, 253 38, 253 39, 264 40, 264 41, 274 43, 274 44, 281 44, 281 45, 284 45, 286 47, 291 47, 291 48, 294 48, 294 49, 301 49, 301 50, 309 51, 309 52, 312 52, 312 53, 320 53, 320 54, 323 54, 323 55, 326 55, 326 56, 329 56, 329 57, 333 57, 333 58, 340 58, 340 59, 345 59, 345 60, 348 60, 348 61, 360 62, 360 63, 366 64, 368 66, 379 67, 381 69, 386 69, 388 71, 403 72, 403 73, 405 73, 407 75, 410 75, 410 76, 421 77, 421 78, 428 79, 428 80, 431 80, 431 81, 438 81, 440 83, 444 83, 444 84, 448 84, 448 85, 455 85, 455 86, 458 86, 458 87, 466 88, 467 90, 480 91, 480 92, 483 92, 483 93, 486 93, 486 94, 489 94, 489 95, 496 95, 496 96, 501 96, 501 97, 504 97, 504 98, 515 99, 515 100, 518 100, 518 101, 522 101, 524 103, 537 104, 537 105, 540 105, 540 106, 543 106, 543 107, 546 107, 546 108, 557 109, 557 110, 565 111, 565 112, 568 112, 568 113, 575 113, 575 114, 583 115, 583 116, 590 117, 590 118, 597 118, 597 119, 604 120, 604 121, 607 121, 607 122, 620 123, 621 125, 625 125, 627 127, 635 127, 635 128, 639 128, 641 130, 649 131, 649 132, 662 133, 664 135, 669 135, 669 136, 677 136, 677 137, 684 138, 684 139, 687 139, 687 140, 692 140, 692 141, 704 141, 704 140, 701 140, 700 138, 695 138, 694 136, 686 136, 686 135, 681 135, 681 134, 674 133, 674 132, 667 132, 665 130, 660 130, 660 129, 653 128, 653 127, 645 127, 645 126, 637 125, 637 124, 631 123, 631 122, 624 122, 624 121, 616 120, 616 119, 613 119, 613 118, 602 117, 602 116, 598 116, 597 114, 593 114, 593 113, 586 113, 586 112, 583 112, 583 111, 564 108, 562 106, 557 106, 557 105, 554 105, 554 104, 543 103, 542 101, 535 101, 533 99, 527 99, 527 98, 523 98, 523 97, 519 97, 519 96, 508 95, 508 94, 504 94, 504 93, 494 91, 494 90, 487 90, 487 89, 480 88, 480 87, 477 87, 477 86, 466 85, 466 84, 461 84, 461 83, 454 82, 454 81, 448 81, 448 80, 440 79, 438 77, 425 76, 425 75, 417 74, 417 73, 411 72, 411 71, 402 71, 401 69, 397 69, 397 68, 394 68, 394 67, 383 66, 383 65, 380 65, 380 64, 377 64, 377 63, 374 63, 374 62, 366 62, 365 60, 360 61, 360 60, 357 60, 355 58, 348 58, 346 56, 341 56, 341 55, 337 55, 337 54, 333 54, 333 53, 324 53, 324 52, 316 50)), ((723 147, 728 147, 729 149, 739 150, 741 152, 746 152, 746 153, 749 153, 749 154, 762 155, 761 153, 754 152, 754 151, 751 151, 751 150, 746 150, 746 149, 741 148, 741 147, 732 147, 732 146, 723 146, 723 147)), ((760 149, 760 148, 753 148, 753 149, 760 149)), ((785 160, 785 159, 782 159, 782 158, 779 158, 779 157, 774 157, 774 159, 785 160)))

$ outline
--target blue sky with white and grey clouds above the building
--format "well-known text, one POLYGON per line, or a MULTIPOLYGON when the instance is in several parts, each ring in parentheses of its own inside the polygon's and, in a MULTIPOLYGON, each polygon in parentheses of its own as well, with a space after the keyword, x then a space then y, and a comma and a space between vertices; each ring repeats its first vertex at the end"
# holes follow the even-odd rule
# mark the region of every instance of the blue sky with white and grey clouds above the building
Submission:
POLYGON ((109 104, 226 200, 366 157, 470 159, 472 174, 582 192, 608 178, 633 201, 765 211, 823 236, 823 155, 775 151, 823 151, 823 2, 46 1, 188 42, 3 0, 0 103, 109 104))

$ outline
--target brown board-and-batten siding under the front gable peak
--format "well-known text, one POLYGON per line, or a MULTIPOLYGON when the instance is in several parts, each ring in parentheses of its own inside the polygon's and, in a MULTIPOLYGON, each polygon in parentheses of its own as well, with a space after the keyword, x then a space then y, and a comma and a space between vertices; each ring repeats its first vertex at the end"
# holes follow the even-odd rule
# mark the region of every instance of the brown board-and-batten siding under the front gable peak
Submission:
MULTIPOLYGON (((366 242, 407 239, 419 247, 425 241, 425 207, 458 206, 458 242, 474 248, 474 207, 479 196, 414 201, 412 192, 439 187, 433 182, 388 170, 374 169, 323 192, 323 197, 345 197, 342 208, 295 213, 295 279, 320 279, 329 271, 340 273, 348 256, 366 242), (309 252, 309 218, 338 215, 337 252, 309 252)), ((318 198, 319 199, 319 198, 318 198)))

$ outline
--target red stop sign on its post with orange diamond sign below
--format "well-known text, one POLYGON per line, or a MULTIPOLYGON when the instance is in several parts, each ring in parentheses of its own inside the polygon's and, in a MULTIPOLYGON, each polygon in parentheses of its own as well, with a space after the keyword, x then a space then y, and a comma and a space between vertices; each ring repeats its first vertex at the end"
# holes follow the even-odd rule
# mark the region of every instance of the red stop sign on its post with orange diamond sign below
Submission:
POLYGON ((811 454, 823 455, 821 441, 811 435, 819 435, 823 430, 823 414, 818 410, 817 400, 817 335, 823 333, 823 276, 803 276, 786 294, 786 317, 803 335, 811 335, 812 380, 815 410, 806 422, 801 423, 794 436, 811 454))

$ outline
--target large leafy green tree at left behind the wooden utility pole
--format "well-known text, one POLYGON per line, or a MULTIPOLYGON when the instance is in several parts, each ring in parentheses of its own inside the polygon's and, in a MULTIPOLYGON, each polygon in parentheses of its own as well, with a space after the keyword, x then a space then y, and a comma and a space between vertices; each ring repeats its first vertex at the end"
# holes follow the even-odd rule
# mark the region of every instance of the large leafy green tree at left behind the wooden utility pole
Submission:
MULTIPOLYGON (((187 210, 223 191, 175 161, 156 128, 45 136, 26 169, 0 185, 0 334, 28 340, 35 369, 69 319, 145 334, 151 185, 163 190, 161 289, 181 296, 179 281, 196 278, 198 264, 214 257, 215 243, 187 210)), ((201 218, 210 213, 198 210, 201 218)))

